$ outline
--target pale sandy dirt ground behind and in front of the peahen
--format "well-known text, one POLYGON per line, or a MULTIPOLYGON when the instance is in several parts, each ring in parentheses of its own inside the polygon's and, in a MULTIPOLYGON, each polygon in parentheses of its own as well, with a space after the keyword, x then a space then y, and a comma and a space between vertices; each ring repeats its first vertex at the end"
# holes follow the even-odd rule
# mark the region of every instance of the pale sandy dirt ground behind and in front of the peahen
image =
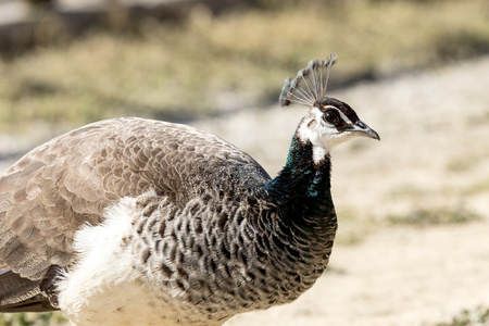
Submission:
MULTIPOLYGON (((340 228, 330 269, 298 301, 226 325, 432 325, 463 309, 489 308, 488 85, 489 58, 481 58, 331 92, 381 141, 358 139, 333 153, 340 228), (462 206, 480 220, 389 223, 418 210, 462 206)), ((275 175, 303 113, 277 104, 193 125, 275 175)), ((1 137, 0 150, 8 151, 10 140, 1 137)), ((12 158, 4 159, 0 170, 12 158)))

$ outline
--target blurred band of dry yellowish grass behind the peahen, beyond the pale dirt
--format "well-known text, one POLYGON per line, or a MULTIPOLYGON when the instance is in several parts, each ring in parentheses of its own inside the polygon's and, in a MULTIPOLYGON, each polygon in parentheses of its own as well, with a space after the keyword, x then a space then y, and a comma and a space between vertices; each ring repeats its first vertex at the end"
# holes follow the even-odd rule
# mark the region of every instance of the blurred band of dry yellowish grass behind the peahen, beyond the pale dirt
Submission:
POLYGON ((262 2, 268 10, 216 17, 196 8, 183 24, 92 32, 0 62, 0 125, 201 117, 275 101, 285 77, 333 51, 334 86, 489 49, 484 0, 262 2))

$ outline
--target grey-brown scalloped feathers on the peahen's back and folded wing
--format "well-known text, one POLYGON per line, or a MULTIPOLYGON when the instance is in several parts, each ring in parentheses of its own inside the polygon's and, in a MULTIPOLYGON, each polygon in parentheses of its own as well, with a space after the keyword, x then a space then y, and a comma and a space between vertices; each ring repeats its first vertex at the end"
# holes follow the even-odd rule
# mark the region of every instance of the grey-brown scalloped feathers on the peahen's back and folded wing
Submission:
POLYGON ((0 178, 0 262, 40 279, 50 265, 73 263, 75 231, 123 197, 154 189, 184 208, 209 188, 233 198, 268 179, 251 156, 192 127, 93 123, 39 146, 0 178))

